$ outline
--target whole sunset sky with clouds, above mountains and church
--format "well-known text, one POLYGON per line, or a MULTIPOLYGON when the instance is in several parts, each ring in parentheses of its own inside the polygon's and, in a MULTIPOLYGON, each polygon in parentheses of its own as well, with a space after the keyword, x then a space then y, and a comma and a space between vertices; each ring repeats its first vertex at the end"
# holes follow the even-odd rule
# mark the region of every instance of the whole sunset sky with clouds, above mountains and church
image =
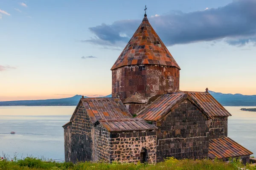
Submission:
POLYGON ((256 94, 256 0, 0 0, 0 101, 111 94, 145 5, 180 90, 256 94))

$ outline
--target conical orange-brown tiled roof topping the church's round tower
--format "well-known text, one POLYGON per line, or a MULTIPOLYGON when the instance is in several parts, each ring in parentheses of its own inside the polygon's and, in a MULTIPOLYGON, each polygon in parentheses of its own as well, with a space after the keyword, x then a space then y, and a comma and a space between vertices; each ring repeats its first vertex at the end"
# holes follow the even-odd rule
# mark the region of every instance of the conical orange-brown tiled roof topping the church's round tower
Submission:
POLYGON ((125 65, 153 64, 180 69, 145 16, 111 70, 125 65))

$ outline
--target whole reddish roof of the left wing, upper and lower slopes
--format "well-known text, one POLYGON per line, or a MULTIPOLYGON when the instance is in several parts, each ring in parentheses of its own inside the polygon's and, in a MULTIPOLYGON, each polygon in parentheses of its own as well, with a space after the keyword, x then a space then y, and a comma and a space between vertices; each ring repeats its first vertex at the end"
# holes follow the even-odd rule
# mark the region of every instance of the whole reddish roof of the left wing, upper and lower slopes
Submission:
MULTIPOLYGON (((148 124, 143 119, 133 118, 119 98, 82 98, 76 110, 81 104, 95 126, 100 123, 110 132, 157 129, 156 126, 148 124)), ((71 123, 75 113, 76 111, 70 122, 64 126, 71 123)))

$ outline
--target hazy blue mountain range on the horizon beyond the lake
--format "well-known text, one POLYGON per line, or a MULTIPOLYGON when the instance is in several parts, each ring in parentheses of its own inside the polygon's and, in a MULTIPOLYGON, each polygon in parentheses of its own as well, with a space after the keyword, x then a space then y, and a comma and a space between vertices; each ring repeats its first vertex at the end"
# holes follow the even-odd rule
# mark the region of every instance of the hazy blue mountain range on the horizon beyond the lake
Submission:
MULTIPOLYGON (((224 106, 256 106, 256 95, 223 94, 214 91, 209 91, 209 93, 224 106)), ((111 96, 110 94, 104 97, 111 96)), ((0 102, 0 106, 75 106, 81 97, 81 95, 76 95, 63 99, 8 101, 0 102)), ((84 97, 87 98, 87 96, 84 97)))

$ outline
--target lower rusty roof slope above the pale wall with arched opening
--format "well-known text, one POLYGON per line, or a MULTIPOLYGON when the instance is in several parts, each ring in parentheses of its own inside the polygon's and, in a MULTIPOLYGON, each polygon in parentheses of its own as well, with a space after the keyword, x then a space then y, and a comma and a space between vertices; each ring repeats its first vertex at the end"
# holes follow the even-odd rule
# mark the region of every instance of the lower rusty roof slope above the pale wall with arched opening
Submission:
POLYGON ((143 119, 138 119, 138 118, 108 119, 108 120, 100 119, 99 123, 110 132, 157 129, 156 126, 148 124, 143 119))

